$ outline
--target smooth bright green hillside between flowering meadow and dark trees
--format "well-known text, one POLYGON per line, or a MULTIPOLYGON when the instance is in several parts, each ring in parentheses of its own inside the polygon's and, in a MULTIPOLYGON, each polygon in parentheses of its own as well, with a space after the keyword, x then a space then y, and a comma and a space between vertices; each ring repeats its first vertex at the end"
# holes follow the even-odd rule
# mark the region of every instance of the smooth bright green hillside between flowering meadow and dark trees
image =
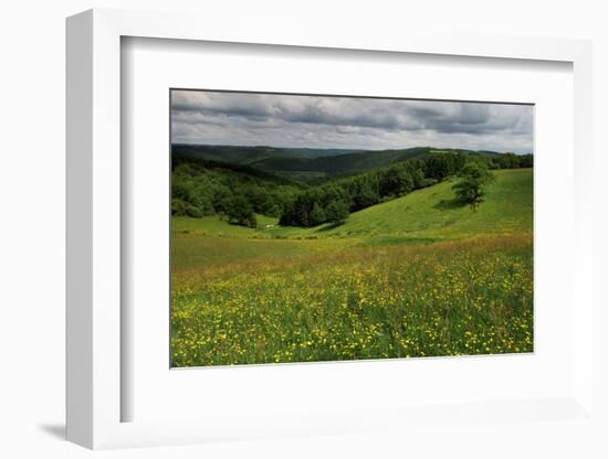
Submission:
POLYGON ((281 227, 276 218, 259 216, 258 230, 229 225, 216 216, 175 217, 177 231, 229 237, 326 238, 355 237, 365 244, 398 244, 458 239, 489 234, 530 234, 533 220, 533 170, 493 172, 486 201, 476 212, 454 202, 449 180, 350 214, 344 225, 313 228, 281 227), (365 241, 364 241, 365 239, 365 241))

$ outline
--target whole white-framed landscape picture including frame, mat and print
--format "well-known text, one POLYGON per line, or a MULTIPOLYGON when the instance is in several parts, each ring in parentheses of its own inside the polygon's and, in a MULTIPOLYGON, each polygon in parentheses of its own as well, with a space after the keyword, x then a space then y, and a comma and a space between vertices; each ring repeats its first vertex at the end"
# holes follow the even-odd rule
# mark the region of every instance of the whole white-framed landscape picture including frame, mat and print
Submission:
POLYGON ((590 44, 256 31, 67 20, 69 439, 593 426, 590 44))

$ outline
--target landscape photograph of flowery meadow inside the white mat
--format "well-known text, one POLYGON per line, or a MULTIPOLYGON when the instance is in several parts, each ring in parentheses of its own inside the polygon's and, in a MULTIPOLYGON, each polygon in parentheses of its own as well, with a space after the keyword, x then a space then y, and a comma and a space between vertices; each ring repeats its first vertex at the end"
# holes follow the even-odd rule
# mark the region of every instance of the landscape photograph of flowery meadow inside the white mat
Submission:
POLYGON ((534 105, 171 88, 170 366, 534 352, 534 105))

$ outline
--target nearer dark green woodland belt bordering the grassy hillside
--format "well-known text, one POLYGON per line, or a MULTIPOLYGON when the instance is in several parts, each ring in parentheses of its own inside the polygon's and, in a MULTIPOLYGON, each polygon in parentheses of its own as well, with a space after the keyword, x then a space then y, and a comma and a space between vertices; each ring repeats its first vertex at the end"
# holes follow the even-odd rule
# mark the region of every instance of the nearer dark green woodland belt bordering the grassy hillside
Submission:
POLYGON ((462 175, 457 195, 479 205, 486 169, 533 166, 532 154, 432 152, 389 167, 336 179, 316 186, 295 184, 242 164, 172 158, 171 213, 201 217, 220 215, 230 223, 255 227, 256 214, 279 217, 281 225, 342 224, 352 212, 462 175), (476 164, 475 168, 468 164, 476 164))

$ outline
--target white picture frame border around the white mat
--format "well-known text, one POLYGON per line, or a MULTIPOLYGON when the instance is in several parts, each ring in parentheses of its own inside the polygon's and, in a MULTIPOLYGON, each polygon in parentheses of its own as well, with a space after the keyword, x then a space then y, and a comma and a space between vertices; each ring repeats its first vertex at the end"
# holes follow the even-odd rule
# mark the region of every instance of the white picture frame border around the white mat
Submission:
POLYGON ((454 415, 453 409, 438 416, 437 407, 403 410, 396 406, 361 412, 356 418, 348 413, 310 413, 297 419, 259 421, 259 414, 244 413, 240 419, 122 421, 120 406, 129 396, 120 383, 120 342, 125 339, 120 327, 120 190, 125 185, 120 173, 120 40, 125 36, 570 63, 575 152, 572 269, 577 303, 572 323, 573 391, 552 401, 464 404, 457 417, 479 419, 482 413, 491 413, 495 420, 531 423, 531 413, 546 409, 558 412, 560 419, 593 423, 590 43, 436 31, 364 36, 346 30, 336 36, 312 33, 306 26, 286 31, 259 25, 241 24, 232 30, 206 18, 118 10, 91 10, 67 20, 67 439, 93 449, 175 445, 369 431, 454 415), (384 421, 378 421, 380 417, 384 421))

